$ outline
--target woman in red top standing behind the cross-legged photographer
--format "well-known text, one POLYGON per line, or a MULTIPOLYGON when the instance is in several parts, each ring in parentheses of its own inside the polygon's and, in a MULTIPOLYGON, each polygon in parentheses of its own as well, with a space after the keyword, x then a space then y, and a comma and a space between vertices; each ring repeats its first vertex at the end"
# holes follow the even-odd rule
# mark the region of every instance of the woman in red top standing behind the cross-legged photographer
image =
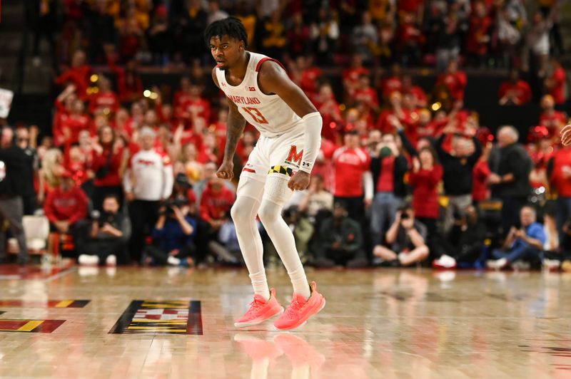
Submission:
POLYGON ((413 158, 413 171, 408 181, 413 187, 415 217, 425 224, 429 237, 435 235, 436 220, 440 215, 438 183, 442 176, 443 168, 438 164, 434 150, 431 147, 420 149, 418 157, 413 158))

